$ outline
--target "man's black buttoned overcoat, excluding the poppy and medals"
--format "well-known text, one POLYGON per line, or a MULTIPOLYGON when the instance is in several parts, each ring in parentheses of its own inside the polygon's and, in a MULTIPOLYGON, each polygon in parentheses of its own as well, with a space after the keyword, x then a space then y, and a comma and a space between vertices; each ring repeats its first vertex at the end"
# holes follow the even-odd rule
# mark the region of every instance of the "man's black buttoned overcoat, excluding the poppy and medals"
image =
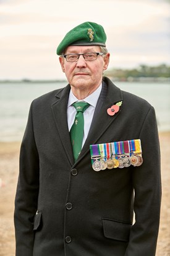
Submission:
POLYGON ((74 163, 67 126, 70 85, 33 101, 20 149, 16 256, 153 256, 161 178, 155 111, 108 78, 74 163), (107 109, 122 101, 119 112, 107 109), (140 167, 94 171, 90 144, 140 139, 140 167), (135 221, 133 215, 135 212, 135 221))

